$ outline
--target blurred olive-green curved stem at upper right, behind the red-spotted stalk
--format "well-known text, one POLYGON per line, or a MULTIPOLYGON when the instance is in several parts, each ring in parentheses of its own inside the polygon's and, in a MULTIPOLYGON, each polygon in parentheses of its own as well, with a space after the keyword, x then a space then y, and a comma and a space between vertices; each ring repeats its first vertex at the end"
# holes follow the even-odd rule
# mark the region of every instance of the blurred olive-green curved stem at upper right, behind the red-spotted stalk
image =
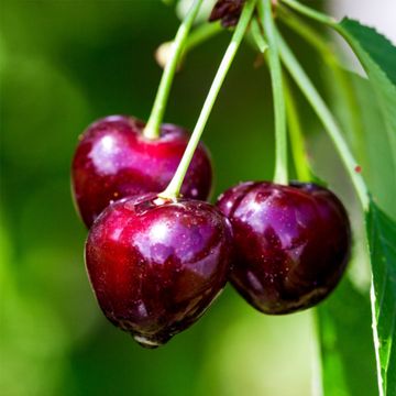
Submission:
MULTIPOLYGON (((333 84, 334 89, 337 89, 339 96, 342 98, 348 111, 345 112, 345 122, 348 124, 346 131, 349 133, 350 140, 356 153, 362 153, 362 131, 363 127, 361 123, 361 117, 359 111, 359 105, 356 97, 353 94, 352 84, 342 69, 342 66, 337 57, 337 55, 331 51, 330 44, 322 37, 321 34, 318 34, 316 30, 310 28, 304 20, 297 15, 290 13, 287 9, 279 6, 278 14, 280 20, 286 23, 294 32, 299 34, 302 38, 310 44, 319 55, 326 61, 327 65, 333 74, 333 78, 338 84, 333 84)), ((362 160, 362 158, 360 158, 362 160)))

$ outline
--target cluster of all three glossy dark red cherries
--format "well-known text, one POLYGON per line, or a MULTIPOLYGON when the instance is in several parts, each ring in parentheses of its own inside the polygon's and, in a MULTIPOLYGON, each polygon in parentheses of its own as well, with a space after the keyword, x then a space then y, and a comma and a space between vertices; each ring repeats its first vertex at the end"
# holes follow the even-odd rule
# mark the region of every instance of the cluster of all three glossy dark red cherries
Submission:
POLYGON ((287 314, 312 307, 340 280, 351 231, 341 201, 315 184, 240 184, 206 200, 212 168, 199 144, 182 193, 167 198, 188 143, 164 124, 113 116, 81 136, 73 193, 90 229, 85 258, 99 305, 146 348, 191 326, 230 280, 253 307, 287 314))

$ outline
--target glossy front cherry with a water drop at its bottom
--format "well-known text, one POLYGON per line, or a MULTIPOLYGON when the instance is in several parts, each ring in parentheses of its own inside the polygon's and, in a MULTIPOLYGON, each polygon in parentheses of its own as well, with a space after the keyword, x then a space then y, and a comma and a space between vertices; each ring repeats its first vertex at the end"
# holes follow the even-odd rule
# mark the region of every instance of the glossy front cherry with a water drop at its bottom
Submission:
POLYGON ((224 287, 231 224, 215 206, 121 199, 91 227, 86 265, 107 318, 147 348, 191 326, 224 287))

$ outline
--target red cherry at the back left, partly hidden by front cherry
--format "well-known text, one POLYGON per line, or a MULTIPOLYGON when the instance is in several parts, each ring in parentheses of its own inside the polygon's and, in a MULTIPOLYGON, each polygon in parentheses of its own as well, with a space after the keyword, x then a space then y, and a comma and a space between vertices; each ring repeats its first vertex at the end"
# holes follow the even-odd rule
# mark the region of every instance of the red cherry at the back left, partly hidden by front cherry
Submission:
MULTIPOLYGON (((170 182, 188 143, 179 127, 162 125, 161 136, 143 136, 144 123, 112 116, 91 124, 82 134, 72 166, 77 209, 89 228, 112 201, 131 195, 161 193, 170 182)), ((206 200, 211 188, 211 163, 199 145, 182 187, 186 198, 206 200)))

